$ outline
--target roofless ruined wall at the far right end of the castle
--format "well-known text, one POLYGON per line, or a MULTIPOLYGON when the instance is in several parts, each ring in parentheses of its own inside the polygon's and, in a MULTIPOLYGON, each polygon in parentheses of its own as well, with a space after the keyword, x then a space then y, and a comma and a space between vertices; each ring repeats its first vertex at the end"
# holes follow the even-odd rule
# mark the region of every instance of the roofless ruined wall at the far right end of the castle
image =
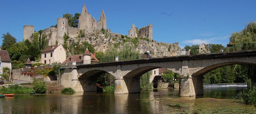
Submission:
POLYGON ((141 27, 139 29, 138 37, 147 37, 148 39, 153 39, 153 25, 150 24, 146 27, 141 27))

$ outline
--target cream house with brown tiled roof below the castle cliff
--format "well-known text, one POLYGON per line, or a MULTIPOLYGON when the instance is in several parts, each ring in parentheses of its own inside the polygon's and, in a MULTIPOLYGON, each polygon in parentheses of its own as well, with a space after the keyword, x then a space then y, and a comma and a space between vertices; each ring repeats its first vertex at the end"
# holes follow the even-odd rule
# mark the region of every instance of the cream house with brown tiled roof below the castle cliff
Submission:
POLYGON ((43 64, 62 63, 65 59, 66 51, 61 44, 48 46, 41 52, 41 63, 43 64))

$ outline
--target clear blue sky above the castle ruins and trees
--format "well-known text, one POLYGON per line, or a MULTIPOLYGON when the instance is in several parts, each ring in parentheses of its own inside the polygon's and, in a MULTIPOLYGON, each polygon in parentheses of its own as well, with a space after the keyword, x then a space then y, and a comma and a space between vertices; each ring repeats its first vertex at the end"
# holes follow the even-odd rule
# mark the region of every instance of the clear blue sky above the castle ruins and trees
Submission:
POLYGON ((154 40, 181 47, 226 45, 233 32, 256 21, 256 0, 1 0, 1 37, 9 32, 22 41, 24 25, 46 29, 65 13, 81 13, 84 3, 97 21, 104 10, 111 32, 127 35, 132 23, 152 23, 154 40))

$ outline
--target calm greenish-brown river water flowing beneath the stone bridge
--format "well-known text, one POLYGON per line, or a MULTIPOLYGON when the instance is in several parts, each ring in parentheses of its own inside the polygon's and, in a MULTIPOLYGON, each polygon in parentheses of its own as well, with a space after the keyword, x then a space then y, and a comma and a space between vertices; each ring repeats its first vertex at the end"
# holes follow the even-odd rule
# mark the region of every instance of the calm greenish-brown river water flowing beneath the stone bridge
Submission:
POLYGON ((235 99, 246 86, 204 85, 204 95, 178 97, 178 89, 141 93, 77 92, 73 95, 15 95, 0 98, 0 114, 255 114, 235 99))

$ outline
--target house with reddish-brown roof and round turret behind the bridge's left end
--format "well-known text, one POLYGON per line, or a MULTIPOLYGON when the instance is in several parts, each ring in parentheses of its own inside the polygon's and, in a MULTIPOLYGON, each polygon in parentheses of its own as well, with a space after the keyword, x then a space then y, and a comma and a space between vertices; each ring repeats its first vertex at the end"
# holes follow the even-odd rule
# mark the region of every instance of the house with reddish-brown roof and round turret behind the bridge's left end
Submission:
POLYGON ((76 62, 76 64, 91 64, 100 61, 95 57, 95 53, 92 54, 88 49, 86 49, 84 54, 68 56, 63 63, 71 64, 73 62, 76 62))

